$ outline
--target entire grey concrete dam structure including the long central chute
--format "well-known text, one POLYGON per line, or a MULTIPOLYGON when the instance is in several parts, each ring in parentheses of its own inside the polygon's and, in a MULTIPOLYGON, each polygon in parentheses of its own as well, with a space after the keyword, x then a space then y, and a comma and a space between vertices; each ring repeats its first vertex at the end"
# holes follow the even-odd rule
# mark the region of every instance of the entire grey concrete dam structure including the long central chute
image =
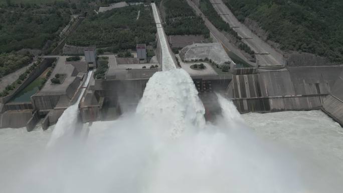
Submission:
MULTIPOLYGON (((118 59, 115 55, 104 55, 108 57, 108 69, 104 78, 96 79, 93 76, 88 77, 87 71, 95 68, 94 64, 97 61, 93 61, 92 66, 87 61, 83 61, 84 59, 78 62, 67 62, 68 56, 45 56, 37 72, 33 73, 34 76, 30 77, 23 87, 51 67, 53 63, 56 67, 52 72, 52 77, 56 74, 64 75, 62 83, 53 85, 48 81, 39 92, 31 96, 28 102, 9 102, 12 96, 3 98, 0 126, 17 128, 27 126, 31 131, 42 119, 42 127, 47 129, 58 121, 68 106, 75 103, 80 94, 82 96, 78 107, 82 122, 114 120, 121 114, 136 109, 146 84, 154 73, 165 68, 180 67, 186 70, 193 79, 199 98, 205 106, 206 120, 213 120, 221 113, 216 95, 220 93, 232 100, 240 113, 321 109, 343 125, 342 65, 317 62, 313 63, 313 66, 308 66, 308 64, 304 65, 301 60, 294 60, 286 61, 285 66, 262 65, 237 68, 235 63, 230 61, 231 72, 227 74, 193 73, 195 71, 192 72, 192 69, 186 69, 188 67, 186 62, 180 61, 183 57, 192 58, 192 53, 182 51, 181 53, 187 53, 187 56, 176 56, 171 51, 154 4, 152 4, 152 11, 157 28, 156 62, 128 65, 125 64, 126 60, 118 59), (156 67, 142 69, 144 65, 156 67), (88 78, 88 84, 82 86, 88 78), (81 90, 85 91, 80 92, 81 90)), ((206 47, 208 46, 206 44, 195 44, 189 46, 188 49, 221 47, 215 44, 209 45, 211 47, 206 47)), ((95 48, 89 49, 95 51, 95 48)), ((201 55, 218 59, 220 56, 215 56, 218 53, 209 55, 201 53, 201 55)), ((96 51, 93 54, 95 54, 93 57, 95 60, 96 51)), ((207 63, 205 65, 212 68, 207 63)))

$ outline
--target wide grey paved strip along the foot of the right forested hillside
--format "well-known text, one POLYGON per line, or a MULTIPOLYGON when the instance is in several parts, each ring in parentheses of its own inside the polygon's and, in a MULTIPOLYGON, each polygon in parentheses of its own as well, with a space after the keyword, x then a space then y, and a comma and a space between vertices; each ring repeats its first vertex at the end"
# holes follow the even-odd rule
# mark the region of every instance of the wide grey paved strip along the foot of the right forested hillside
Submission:
POLYGON ((282 54, 278 53, 270 45, 264 42, 261 38, 251 32, 244 24, 240 23, 222 0, 210 0, 213 3, 214 9, 221 14, 221 18, 229 23, 238 35, 256 53, 256 61, 260 66, 284 65, 285 59, 282 54), (224 15, 223 15, 224 14, 224 15), (249 38, 249 39, 245 39, 249 38))

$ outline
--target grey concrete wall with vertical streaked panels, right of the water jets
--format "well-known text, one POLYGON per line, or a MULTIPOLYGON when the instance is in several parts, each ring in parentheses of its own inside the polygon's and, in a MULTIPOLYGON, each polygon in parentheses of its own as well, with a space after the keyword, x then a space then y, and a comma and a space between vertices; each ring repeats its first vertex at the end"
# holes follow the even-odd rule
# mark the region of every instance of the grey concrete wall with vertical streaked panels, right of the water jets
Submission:
POLYGON ((334 85, 342 70, 342 66, 258 69, 233 75, 227 94, 241 113, 321 109, 331 90, 339 87, 334 85))

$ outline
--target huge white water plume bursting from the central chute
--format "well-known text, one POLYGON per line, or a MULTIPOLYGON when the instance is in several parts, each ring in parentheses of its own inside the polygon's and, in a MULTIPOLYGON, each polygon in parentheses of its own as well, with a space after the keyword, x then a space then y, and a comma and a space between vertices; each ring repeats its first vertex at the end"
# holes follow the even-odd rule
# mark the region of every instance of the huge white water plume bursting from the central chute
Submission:
POLYGON ((205 108, 192 78, 183 69, 156 72, 148 81, 136 113, 162 122, 172 136, 189 127, 203 128, 205 108))

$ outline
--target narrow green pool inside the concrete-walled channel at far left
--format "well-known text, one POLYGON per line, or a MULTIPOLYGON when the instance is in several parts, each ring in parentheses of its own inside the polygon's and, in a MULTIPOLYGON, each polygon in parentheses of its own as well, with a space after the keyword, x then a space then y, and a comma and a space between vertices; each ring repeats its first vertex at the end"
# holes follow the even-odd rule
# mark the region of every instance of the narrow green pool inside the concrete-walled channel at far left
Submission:
POLYGON ((38 77, 27 87, 17 93, 10 102, 31 102, 31 96, 39 91, 39 87, 44 83, 44 78, 38 77))

